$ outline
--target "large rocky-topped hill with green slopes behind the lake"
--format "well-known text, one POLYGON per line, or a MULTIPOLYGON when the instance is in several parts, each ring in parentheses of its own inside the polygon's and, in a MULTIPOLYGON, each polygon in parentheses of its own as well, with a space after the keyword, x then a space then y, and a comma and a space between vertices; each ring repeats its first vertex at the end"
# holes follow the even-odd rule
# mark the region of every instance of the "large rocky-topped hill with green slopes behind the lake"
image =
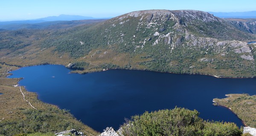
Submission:
POLYGON ((0 61, 21 66, 71 63, 71 67, 84 68, 83 72, 125 68, 256 75, 255 45, 247 44, 256 41, 256 35, 203 11, 134 11, 69 29, 1 33, 8 38, 0 40, 5 45, 0 61))

